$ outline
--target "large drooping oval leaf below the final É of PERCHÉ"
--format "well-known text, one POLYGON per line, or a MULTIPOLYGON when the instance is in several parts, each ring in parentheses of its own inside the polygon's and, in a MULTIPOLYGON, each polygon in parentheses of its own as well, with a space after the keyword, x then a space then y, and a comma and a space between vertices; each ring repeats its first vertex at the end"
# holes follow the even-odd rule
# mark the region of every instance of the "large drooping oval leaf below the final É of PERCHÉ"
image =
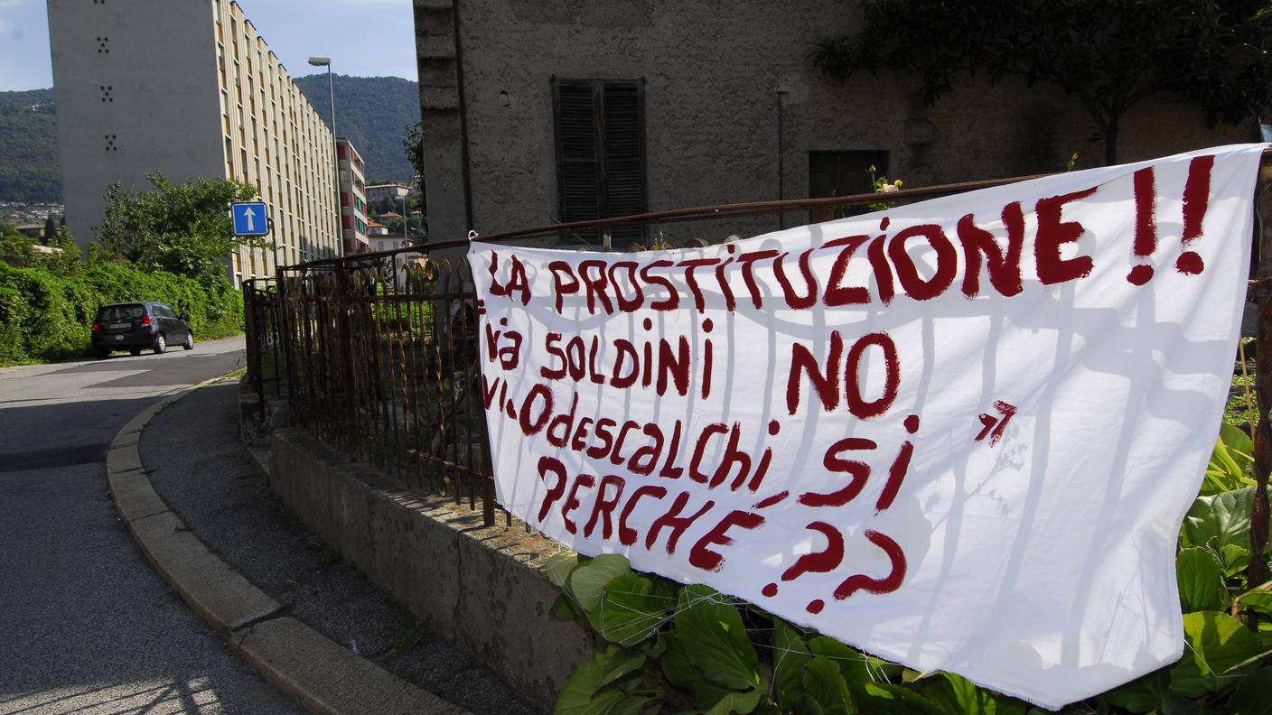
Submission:
POLYGON ((710 587, 691 585, 681 590, 678 608, 677 640, 695 668, 729 690, 748 691, 759 684, 756 648, 735 606, 710 587))

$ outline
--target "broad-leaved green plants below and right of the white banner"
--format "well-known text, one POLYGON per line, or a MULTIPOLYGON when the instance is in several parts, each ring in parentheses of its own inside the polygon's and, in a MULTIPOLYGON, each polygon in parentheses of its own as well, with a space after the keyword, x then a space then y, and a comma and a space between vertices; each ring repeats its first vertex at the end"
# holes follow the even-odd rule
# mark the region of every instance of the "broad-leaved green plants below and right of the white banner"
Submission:
MULTIPOLYGON (((1178 663, 1071 712, 1272 712, 1272 583, 1248 584, 1254 489, 1249 438, 1225 426, 1175 560, 1187 648, 1178 663), (1266 622, 1266 621, 1264 621, 1266 622)), ((1267 553, 1258 555, 1267 559, 1267 553)), ((622 556, 562 551, 552 614, 605 644, 566 682, 555 715, 1040 715, 953 673, 920 674, 787 623, 705 585, 632 571, 622 556)))

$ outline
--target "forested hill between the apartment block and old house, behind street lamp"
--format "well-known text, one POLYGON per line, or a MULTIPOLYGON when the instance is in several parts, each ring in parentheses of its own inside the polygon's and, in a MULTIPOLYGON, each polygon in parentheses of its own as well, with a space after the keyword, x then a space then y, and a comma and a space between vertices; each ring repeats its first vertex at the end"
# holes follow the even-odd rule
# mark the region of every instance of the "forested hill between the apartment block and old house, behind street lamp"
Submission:
MULTIPOLYGON (((323 121, 331 122, 327 74, 295 78, 323 121)), ((420 121, 420 90, 396 76, 335 75, 336 134, 347 137, 366 163, 368 183, 406 181, 413 169, 402 150, 406 126, 420 121)))

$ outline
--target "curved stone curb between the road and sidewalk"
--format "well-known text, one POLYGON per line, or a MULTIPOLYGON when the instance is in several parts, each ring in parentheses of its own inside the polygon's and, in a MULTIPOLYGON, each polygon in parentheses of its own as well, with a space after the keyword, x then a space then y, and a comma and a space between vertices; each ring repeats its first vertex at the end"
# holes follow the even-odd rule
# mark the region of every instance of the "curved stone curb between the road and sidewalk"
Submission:
POLYGON ((137 449, 146 424, 191 391, 228 377, 168 394, 111 441, 106 461, 111 496, 146 561, 235 653, 310 712, 467 715, 285 616, 281 604, 212 553, 155 492, 137 449))

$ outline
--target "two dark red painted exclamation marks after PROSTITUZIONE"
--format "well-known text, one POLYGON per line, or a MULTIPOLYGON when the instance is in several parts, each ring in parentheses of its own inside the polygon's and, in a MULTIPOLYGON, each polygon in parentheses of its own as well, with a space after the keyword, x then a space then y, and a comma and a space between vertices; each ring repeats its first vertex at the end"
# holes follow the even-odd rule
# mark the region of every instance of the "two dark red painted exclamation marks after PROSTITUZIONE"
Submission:
MULTIPOLYGON (((1188 178, 1184 181, 1183 195, 1183 235, 1180 243, 1186 251, 1175 260, 1175 270, 1194 276, 1206 268, 1206 263, 1196 251, 1187 248, 1201 238, 1202 220, 1210 205, 1210 173, 1215 167, 1215 156, 1197 156, 1188 163, 1188 178)), ((1152 265, 1149 260, 1158 248, 1156 207, 1158 192, 1152 167, 1140 169, 1133 174, 1135 186, 1135 240, 1131 251, 1136 258, 1144 260, 1127 274, 1126 280, 1133 285, 1144 285, 1152 279, 1152 265)))

